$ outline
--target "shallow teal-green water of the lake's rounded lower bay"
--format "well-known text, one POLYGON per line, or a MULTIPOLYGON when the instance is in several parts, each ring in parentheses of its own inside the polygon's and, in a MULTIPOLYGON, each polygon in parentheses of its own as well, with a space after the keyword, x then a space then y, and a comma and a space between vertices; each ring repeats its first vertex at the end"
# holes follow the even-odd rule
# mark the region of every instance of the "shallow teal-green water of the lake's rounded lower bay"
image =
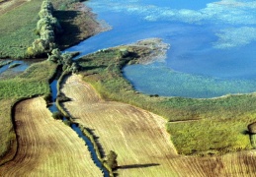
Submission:
POLYGON ((256 81, 185 74, 159 63, 127 66, 123 74, 134 89, 153 95, 211 98, 256 91, 256 81))

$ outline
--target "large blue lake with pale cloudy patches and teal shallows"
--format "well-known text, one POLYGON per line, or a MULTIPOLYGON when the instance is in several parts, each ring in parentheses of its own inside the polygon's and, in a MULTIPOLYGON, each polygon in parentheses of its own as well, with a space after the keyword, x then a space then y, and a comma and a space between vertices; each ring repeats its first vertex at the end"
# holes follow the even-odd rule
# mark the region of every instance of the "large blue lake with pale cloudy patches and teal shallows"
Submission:
POLYGON ((91 0, 86 4, 113 29, 68 50, 84 55, 148 37, 170 44, 160 65, 124 69, 134 89, 186 97, 255 91, 256 1, 91 0))

